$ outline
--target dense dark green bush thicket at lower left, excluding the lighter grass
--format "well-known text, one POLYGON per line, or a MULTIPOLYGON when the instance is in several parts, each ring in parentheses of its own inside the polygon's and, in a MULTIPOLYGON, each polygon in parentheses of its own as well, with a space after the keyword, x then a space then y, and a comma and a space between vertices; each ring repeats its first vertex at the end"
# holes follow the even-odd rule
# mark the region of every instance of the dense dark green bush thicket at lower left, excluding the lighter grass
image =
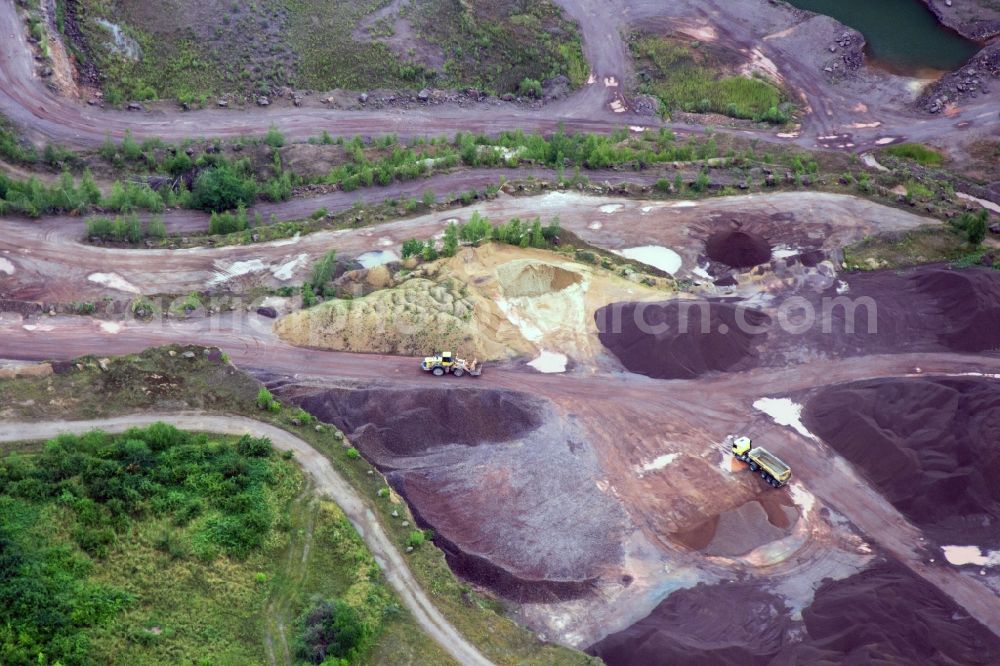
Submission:
POLYGON ((275 522, 275 462, 266 439, 212 441, 162 423, 62 435, 37 456, 4 457, 0 663, 91 663, 88 632, 134 602, 91 579, 93 558, 136 521, 185 527, 158 544, 172 556, 245 558, 261 548, 275 522))

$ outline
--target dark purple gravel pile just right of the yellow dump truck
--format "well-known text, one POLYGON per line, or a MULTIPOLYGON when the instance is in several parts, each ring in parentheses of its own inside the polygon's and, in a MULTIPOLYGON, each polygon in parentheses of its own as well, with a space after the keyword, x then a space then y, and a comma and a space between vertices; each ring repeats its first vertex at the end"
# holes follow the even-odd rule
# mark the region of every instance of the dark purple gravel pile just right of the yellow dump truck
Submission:
POLYGON ((1000 545, 1000 384, 978 377, 887 378, 809 400, 809 430, 939 539, 1000 545))

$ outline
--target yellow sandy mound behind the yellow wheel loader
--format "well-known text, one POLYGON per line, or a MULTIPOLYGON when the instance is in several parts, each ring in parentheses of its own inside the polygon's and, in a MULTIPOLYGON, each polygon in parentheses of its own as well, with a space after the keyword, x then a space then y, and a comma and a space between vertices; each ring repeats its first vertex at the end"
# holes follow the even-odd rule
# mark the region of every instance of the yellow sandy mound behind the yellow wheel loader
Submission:
POLYGON ((502 360, 549 349, 583 359, 601 349, 597 308, 663 295, 556 253, 488 245, 423 266, 396 286, 293 313, 276 331, 291 344, 341 351, 451 349, 502 360))

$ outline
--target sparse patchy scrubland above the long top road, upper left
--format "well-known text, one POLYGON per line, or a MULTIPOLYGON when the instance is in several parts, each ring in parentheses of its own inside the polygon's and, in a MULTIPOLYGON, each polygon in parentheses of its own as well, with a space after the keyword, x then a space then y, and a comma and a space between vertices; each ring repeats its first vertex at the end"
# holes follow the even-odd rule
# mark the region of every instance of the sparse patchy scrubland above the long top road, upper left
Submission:
POLYGON ((366 90, 476 86, 517 92, 522 81, 586 81, 575 25, 548 0, 428 0, 398 16, 369 17, 391 0, 251 3, 83 0, 82 44, 103 75, 105 98, 176 99, 204 105, 281 87, 366 90), (395 34, 396 20, 413 37, 395 34), (109 27, 104 22, 114 24, 109 27), (117 29, 117 36, 113 30, 117 29), (433 52, 434 57, 426 57, 433 52), (442 55, 443 54, 443 55, 442 55))

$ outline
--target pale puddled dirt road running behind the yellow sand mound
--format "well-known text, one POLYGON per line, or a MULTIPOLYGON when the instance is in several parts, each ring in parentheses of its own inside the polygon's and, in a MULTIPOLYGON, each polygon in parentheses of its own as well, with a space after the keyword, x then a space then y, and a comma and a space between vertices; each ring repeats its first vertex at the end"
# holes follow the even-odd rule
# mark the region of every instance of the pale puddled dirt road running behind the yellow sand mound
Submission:
MULTIPOLYGON (((301 216, 303 207, 345 207, 342 193, 298 199, 272 210, 301 216)), ((718 197, 704 201, 654 201, 593 197, 576 192, 550 192, 532 197, 501 196, 462 210, 433 212, 395 220, 377 227, 321 231, 301 238, 268 243, 184 250, 119 249, 90 245, 80 238, 79 218, 43 220, 0 219, 0 258, 8 267, 0 273, 0 297, 21 300, 96 301, 105 296, 181 294, 238 284, 241 276, 262 284, 298 284, 315 260, 334 249, 342 258, 374 250, 397 253, 407 238, 427 239, 440 233, 448 220, 466 220, 479 212, 495 222, 512 217, 558 219, 588 242, 612 250, 645 245, 670 248, 682 257, 678 276, 689 276, 703 254, 703 241, 713 225, 733 217, 779 216, 774 244, 830 250, 873 233, 935 223, 929 218, 889 208, 865 199, 823 192, 718 197), (798 229, 793 233, 793 229, 798 229), (806 230, 806 231, 803 231, 806 230), (811 238, 805 237, 805 233, 811 238), (100 277, 114 274, 120 281, 100 277), (95 281, 96 280, 96 281, 95 281), (234 280, 230 282, 230 280, 234 280), (109 286, 110 284, 110 286, 109 286)), ((186 225, 199 219, 191 211, 166 216, 168 224, 186 225)), ((777 219, 777 218, 776 218, 777 219)))

